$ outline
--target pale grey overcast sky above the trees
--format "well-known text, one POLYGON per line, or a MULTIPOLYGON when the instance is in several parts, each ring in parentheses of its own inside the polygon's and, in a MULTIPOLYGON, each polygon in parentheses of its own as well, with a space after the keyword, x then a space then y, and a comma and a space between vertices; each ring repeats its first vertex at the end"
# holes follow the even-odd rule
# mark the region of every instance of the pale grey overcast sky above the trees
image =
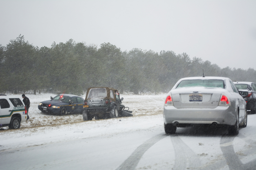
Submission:
POLYGON ((221 68, 256 69, 256 0, 0 0, 0 44, 20 34, 53 42, 110 42, 129 51, 186 52, 221 68))

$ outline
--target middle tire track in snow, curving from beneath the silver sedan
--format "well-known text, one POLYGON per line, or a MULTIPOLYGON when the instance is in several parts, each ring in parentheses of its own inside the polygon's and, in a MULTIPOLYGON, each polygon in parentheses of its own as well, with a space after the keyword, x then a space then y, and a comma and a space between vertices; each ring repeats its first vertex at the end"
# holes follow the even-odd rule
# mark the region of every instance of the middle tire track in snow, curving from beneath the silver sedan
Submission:
MULTIPOLYGON (((173 170, 199 169, 199 157, 187 146, 179 136, 170 136, 175 152, 173 170)), ((171 167, 170 167, 171 168, 171 167)))

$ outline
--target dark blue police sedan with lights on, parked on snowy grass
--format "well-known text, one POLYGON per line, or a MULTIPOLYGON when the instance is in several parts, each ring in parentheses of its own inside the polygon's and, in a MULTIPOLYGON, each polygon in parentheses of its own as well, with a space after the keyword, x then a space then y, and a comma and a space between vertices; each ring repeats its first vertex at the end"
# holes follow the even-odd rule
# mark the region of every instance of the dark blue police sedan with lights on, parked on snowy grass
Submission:
POLYGON ((77 95, 60 94, 51 97, 51 100, 42 101, 38 109, 42 112, 65 115, 67 113, 81 113, 83 110, 84 99, 77 95))

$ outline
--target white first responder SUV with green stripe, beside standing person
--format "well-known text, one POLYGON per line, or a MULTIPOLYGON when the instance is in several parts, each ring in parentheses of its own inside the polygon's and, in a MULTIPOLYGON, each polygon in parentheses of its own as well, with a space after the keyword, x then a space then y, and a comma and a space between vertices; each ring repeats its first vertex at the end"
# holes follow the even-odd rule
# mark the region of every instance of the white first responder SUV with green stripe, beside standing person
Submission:
POLYGON ((0 96, 0 127, 19 129, 20 123, 27 120, 27 110, 20 98, 0 96))

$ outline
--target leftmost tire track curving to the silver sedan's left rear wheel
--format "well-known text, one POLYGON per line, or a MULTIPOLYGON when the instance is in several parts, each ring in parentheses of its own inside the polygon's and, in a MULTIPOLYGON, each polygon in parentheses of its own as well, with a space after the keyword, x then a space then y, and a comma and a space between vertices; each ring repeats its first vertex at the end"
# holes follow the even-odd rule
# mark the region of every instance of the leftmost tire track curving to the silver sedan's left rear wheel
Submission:
POLYGON ((165 135, 165 133, 161 133, 147 140, 146 142, 141 144, 139 147, 137 147, 135 151, 131 154, 131 156, 129 156, 116 170, 134 170, 138 165, 139 161, 141 160, 141 157, 143 156, 143 154, 151 146, 153 146, 155 143, 157 143, 158 141, 160 141, 161 139, 167 136, 168 135, 165 135))

